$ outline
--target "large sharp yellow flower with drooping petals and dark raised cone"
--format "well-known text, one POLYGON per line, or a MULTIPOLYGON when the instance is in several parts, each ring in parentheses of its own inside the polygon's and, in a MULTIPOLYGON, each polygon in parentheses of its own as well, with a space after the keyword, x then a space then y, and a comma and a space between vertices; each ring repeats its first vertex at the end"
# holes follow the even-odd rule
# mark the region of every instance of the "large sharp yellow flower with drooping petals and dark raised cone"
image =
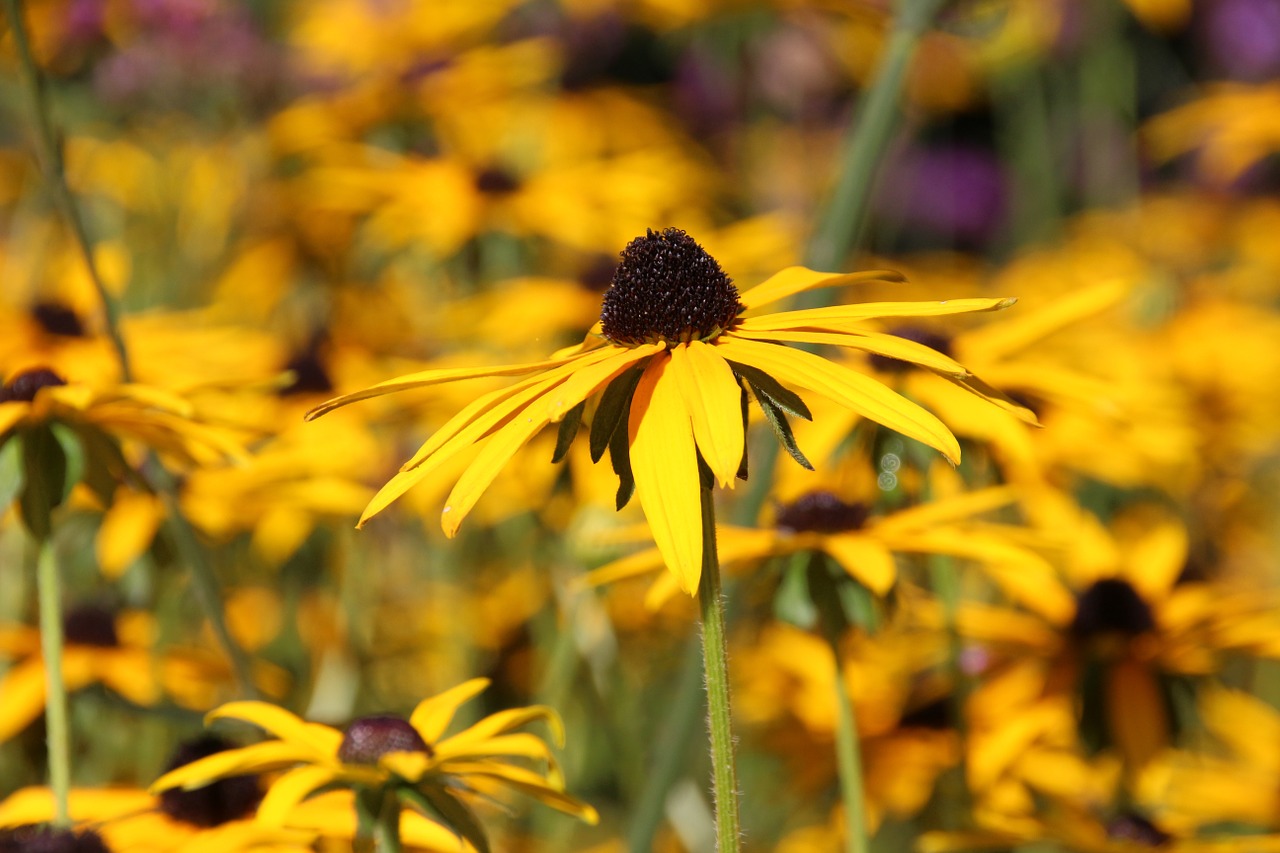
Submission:
POLYGON ((991 311, 1014 300, 868 302, 753 316, 755 309, 818 287, 900 278, 883 270, 837 275, 791 266, 740 297, 719 264, 689 234, 650 231, 622 251, 600 321, 581 345, 545 361, 399 377, 330 400, 308 418, 396 391, 532 374, 458 412, 379 491, 360 519, 364 524, 483 442, 442 514, 452 537, 498 471, 549 423, 561 424, 554 460, 563 457, 586 401, 603 392, 590 425, 593 459, 609 451, 621 480, 618 506, 632 493, 639 496, 667 567, 692 594, 703 557, 700 488, 704 482, 732 488, 736 478, 745 476, 749 398, 760 405, 788 450, 794 442, 786 416, 808 418, 809 411, 783 383, 823 394, 959 461, 955 435, 932 414, 865 374, 785 343, 845 346, 901 359, 988 396, 987 387, 954 359, 864 323, 991 311))

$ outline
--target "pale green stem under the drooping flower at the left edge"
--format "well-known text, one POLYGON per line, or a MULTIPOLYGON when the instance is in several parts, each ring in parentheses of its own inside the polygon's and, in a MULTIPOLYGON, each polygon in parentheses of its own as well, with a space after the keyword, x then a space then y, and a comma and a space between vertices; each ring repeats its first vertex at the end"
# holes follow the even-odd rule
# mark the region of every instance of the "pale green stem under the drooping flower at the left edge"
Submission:
POLYGON ((70 726, 67 722, 67 685, 63 683, 63 599, 58 583, 58 556, 49 539, 40 543, 36 557, 36 587, 40 594, 40 647, 45 658, 45 724, 49 742, 49 788, 54 793, 54 826, 72 825, 70 726))

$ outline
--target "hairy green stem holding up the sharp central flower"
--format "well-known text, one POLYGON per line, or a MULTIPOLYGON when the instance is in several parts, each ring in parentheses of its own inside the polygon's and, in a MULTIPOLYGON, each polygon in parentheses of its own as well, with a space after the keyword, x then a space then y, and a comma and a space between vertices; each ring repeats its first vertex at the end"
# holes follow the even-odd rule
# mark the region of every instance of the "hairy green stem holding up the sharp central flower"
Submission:
POLYGON ((717 850, 740 849, 741 818, 737 806, 737 768, 728 702, 728 651, 724 637, 724 596, 721 592, 719 556, 716 552, 716 500, 703 497, 703 576, 698 602, 703 616, 703 669, 707 674, 707 721, 712 735, 712 779, 716 793, 717 850))

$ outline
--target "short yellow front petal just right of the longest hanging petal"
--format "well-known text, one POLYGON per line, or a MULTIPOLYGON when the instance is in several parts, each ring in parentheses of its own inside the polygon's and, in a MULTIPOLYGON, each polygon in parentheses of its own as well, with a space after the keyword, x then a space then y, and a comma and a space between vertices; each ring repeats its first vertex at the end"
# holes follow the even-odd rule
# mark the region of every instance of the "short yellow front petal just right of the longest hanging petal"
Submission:
POLYGON ((701 341, 671 350, 669 370, 685 400, 694 441, 721 488, 732 488, 742 464, 742 389, 714 347, 701 341))

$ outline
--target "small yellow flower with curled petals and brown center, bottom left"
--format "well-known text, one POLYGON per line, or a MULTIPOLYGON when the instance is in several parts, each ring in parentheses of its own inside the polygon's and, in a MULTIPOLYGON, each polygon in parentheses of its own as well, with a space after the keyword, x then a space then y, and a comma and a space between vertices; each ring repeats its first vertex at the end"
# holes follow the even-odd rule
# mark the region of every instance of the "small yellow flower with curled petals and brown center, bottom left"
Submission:
MULTIPOLYGON (((284 770, 257 809, 257 820, 266 825, 285 825, 300 803, 321 788, 335 785, 357 792, 393 790, 415 808, 435 809, 472 843, 476 839, 471 827, 479 822, 463 798, 488 797, 503 788, 594 824, 595 809, 564 793, 563 776, 547 743, 527 731, 516 731, 544 720, 557 742, 562 742, 559 716, 550 708, 499 711, 444 736, 458 707, 488 684, 488 679, 472 679, 422 701, 407 721, 370 716, 353 721, 346 731, 306 722, 265 702, 232 702, 210 712, 206 721, 243 720, 276 739, 172 770, 156 780, 151 792, 193 789, 227 776, 284 770), (532 770, 529 763, 547 770, 532 770)), ((483 841, 477 847, 483 848, 483 841)))

